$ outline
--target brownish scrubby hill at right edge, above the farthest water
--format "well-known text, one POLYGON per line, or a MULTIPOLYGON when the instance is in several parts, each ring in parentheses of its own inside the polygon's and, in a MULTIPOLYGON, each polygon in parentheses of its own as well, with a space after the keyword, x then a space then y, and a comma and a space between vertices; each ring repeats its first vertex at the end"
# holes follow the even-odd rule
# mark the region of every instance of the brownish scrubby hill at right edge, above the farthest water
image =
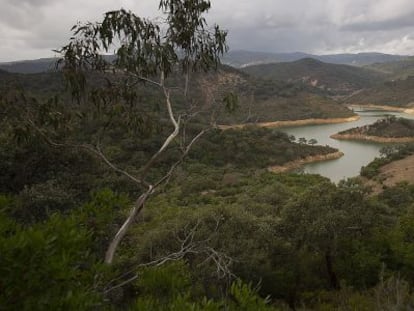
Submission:
POLYGON ((386 81, 378 86, 360 91, 345 100, 346 104, 374 104, 414 107, 414 76, 404 80, 386 81))

